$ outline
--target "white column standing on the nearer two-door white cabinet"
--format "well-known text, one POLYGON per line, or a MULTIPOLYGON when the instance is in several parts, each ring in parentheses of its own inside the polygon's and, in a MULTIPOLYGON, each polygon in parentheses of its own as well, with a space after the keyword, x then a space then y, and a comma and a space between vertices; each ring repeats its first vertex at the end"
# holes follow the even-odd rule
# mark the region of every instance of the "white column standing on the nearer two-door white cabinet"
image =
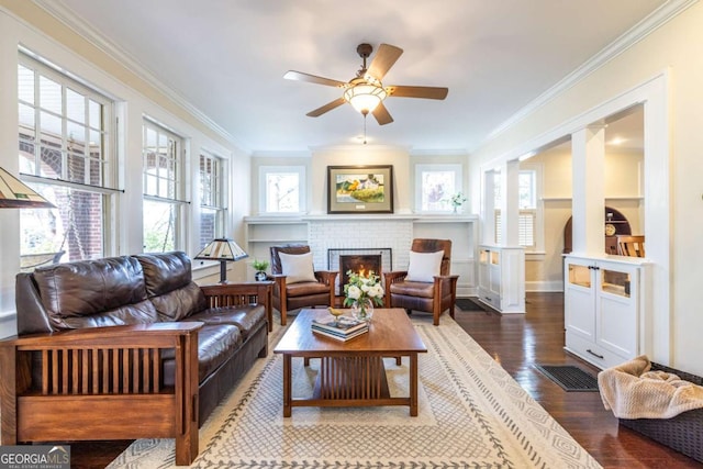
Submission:
POLYGON ((588 126, 571 134, 573 253, 603 256, 605 225, 605 127, 588 126))

